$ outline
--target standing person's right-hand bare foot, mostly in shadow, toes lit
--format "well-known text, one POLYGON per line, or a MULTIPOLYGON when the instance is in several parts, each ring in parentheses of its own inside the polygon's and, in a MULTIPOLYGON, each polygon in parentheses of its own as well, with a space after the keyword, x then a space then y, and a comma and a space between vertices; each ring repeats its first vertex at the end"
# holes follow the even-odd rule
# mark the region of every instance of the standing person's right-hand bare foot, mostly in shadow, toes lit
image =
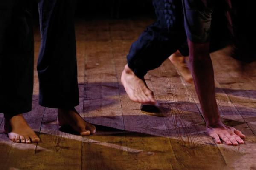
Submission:
POLYGON ((96 132, 96 127, 86 122, 75 108, 58 109, 58 122, 60 126, 69 126, 82 136, 89 136, 96 132))

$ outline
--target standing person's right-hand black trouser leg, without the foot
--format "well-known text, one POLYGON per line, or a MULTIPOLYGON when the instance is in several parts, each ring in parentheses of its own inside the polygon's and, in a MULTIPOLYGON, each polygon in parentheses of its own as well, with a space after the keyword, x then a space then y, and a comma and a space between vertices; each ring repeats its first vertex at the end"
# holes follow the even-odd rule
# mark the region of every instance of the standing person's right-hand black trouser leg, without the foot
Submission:
POLYGON ((37 68, 42 106, 79 105, 75 6, 76 0, 39 0, 41 49, 37 68))

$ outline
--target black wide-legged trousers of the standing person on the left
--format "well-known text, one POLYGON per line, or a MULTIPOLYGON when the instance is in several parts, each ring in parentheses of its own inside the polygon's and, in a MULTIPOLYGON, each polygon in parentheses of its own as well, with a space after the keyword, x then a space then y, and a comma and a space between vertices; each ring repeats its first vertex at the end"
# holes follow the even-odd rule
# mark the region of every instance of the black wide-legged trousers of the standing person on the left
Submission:
MULTIPOLYGON (((0 1, 0 113, 32 109, 34 41, 30 0, 0 1)), ((39 104, 79 105, 74 12, 76 0, 39 0, 39 104)))

